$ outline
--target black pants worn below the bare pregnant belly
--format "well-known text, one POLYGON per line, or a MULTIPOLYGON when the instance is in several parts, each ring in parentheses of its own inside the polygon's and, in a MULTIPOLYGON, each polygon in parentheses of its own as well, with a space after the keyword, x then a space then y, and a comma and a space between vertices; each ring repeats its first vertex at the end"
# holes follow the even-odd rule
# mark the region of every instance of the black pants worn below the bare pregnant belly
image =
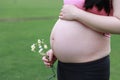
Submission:
POLYGON ((58 61, 58 80, 109 80, 109 56, 86 63, 63 63, 58 61))

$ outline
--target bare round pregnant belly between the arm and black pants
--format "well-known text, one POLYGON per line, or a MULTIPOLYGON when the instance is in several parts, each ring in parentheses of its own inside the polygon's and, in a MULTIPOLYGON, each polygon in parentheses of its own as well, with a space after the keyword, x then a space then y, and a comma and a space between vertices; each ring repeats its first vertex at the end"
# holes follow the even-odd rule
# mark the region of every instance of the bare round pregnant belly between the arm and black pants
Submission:
POLYGON ((101 53, 108 49, 107 44, 108 38, 77 21, 58 20, 51 34, 54 54, 64 62, 74 62, 101 53))

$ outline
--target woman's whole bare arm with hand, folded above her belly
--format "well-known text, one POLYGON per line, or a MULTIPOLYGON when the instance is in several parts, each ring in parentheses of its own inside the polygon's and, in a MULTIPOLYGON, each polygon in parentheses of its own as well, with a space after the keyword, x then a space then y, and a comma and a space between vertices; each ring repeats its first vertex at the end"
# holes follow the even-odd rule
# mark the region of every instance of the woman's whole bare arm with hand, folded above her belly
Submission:
POLYGON ((99 31, 120 34, 120 0, 113 0, 113 16, 101 16, 78 9, 73 5, 64 5, 60 18, 77 20, 99 31))

